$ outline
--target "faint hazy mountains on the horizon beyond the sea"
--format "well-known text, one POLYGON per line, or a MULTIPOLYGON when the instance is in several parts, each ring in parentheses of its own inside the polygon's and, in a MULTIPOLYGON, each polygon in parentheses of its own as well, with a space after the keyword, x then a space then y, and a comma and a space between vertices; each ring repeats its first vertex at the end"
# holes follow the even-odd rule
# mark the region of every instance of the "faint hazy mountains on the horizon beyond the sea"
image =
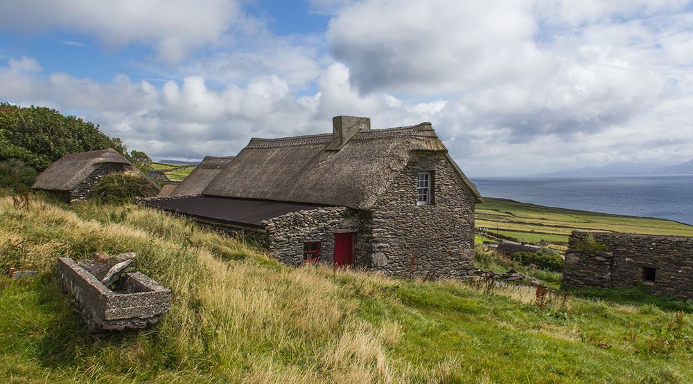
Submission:
POLYGON ((602 167, 584 167, 534 177, 596 177, 596 176, 665 176, 674 174, 693 175, 693 159, 677 165, 660 163, 612 163, 602 167))

